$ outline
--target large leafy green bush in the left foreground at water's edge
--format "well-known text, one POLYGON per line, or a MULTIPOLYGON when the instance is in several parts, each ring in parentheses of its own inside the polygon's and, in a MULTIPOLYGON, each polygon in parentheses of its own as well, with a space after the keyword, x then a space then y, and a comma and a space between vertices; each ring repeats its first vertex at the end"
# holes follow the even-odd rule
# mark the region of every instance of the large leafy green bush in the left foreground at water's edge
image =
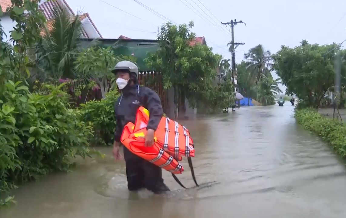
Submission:
MULTIPOLYGON (((26 85, 8 80, 0 92, 0 194, 40 175, 67 171, 76 155, 89 156, 91 123, 69 107, 62 87, 43 85, 30 93, 26 85)), ((9 197, 0 202, 6 204, 9 197)))

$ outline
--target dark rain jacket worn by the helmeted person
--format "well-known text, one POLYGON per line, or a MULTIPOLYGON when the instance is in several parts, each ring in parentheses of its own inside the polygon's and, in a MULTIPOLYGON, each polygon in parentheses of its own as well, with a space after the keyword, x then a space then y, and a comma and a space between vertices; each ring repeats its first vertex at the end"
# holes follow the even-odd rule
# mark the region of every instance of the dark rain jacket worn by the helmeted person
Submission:
MULTIPOLYGON (((138 107, 143 106, 149 111, 149 121, 147 129, 156 130, 163 116, 163 109, 160 97, 147 87, 133 85, 126 86, 121 91, 121 96, 114 104, 114 115, 117 122, 114 140, 120 142, 122 129, 128 122, 135 123, 138 107)), ((125 160, 132 154, 124 147, 125 160)))

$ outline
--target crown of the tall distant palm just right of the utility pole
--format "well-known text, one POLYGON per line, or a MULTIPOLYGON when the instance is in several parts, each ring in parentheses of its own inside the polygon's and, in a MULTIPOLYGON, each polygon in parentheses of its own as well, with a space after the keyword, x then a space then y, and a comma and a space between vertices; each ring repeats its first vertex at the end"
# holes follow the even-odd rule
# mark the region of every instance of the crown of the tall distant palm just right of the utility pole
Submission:
POLYGON ((244 55, 246 68, 249 70, 251 79, 255 80, 256 84, 264 77, 272 78, 270 69, 272 67, 272 57, 269 50, 264 50, 263 45, 259 44, 244 55))

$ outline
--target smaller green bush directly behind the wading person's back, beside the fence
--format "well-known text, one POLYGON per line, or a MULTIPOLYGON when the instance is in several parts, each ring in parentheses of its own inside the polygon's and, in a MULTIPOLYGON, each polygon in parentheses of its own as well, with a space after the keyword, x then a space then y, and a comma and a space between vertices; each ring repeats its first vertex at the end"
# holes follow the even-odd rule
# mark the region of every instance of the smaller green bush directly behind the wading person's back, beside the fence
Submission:
POLYGON ((109 91, 101 101, 93 100, 81 104, 83 120, 92 122, 95 137, 91 140, 94 145, 110 145, 114 142, 116 121, 114 117, 114 102, 119 97, 118 91, 109 91))

